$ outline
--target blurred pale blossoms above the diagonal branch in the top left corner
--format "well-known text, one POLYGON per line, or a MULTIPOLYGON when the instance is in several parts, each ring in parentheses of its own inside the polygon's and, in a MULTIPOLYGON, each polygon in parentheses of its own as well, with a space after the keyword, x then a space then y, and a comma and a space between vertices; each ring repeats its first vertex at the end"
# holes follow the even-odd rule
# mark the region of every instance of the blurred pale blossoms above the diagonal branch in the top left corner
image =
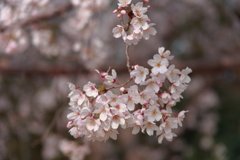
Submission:
POLYGON ((18 26, 38 16, 49 15, 66 3, 67 0, 0 1, 0 26, 18 26))

